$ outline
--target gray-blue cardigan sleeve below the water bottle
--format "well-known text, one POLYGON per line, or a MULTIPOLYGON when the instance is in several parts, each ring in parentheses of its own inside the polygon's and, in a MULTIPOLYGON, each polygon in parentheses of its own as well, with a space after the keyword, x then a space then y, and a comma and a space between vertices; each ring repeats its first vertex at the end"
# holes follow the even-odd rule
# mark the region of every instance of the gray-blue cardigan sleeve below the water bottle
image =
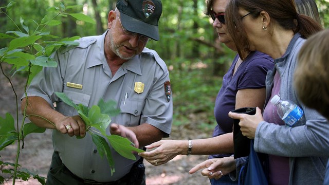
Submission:
POLYGON ((285 157, 327 156, 328 121, 316 110, 302 108, 306 118, 304 125, 289 127, 261 122, 255 133, 254 150, 285 157))

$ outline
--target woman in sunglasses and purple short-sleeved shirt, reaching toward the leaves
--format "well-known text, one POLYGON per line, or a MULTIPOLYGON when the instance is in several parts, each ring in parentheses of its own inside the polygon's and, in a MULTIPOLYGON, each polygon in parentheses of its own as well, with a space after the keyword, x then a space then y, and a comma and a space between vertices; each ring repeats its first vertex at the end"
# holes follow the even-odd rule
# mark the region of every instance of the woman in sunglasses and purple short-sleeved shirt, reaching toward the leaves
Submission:
MULTIPOLYGON (((209 0, 207 15, 210 15, 218 39, 228 48, 236 51, 236 47, 228 34, 225 23, 225 7, 229 0, 209 0)), ((161 140, 149 146, 157 149, 140 155, 151 164, 160 165, 177 155, 211 155, 210 158, 222 158, 232 155, 233 134, 232 119, 228 117, 231 110, 241 107, 262 107, 265 103, 265 78, 269 69, 273 68, 272 59, 264 53, 254 51, 244 53, 247 57, 241 60, 239 55, 234 58, 231 67, 223 78, 214 108, 217 125, 212 138, 193 140, 161 140), (156 161, 156 162, 154 162, 156 161)), ((221 179, 209 177, 211 184, 237 184, 227 173, 221 179)))

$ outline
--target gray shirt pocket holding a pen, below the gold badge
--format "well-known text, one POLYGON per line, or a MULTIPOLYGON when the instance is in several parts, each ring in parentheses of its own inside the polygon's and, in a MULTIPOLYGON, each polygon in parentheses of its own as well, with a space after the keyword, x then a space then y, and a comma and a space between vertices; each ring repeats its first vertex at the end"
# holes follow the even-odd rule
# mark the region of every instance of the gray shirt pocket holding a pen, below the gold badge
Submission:
POLYGON ((137 126, 140 124, 140 116, 145 104, 142 99, 127 98, 121 101, 121 121, 125 126, 137 126))

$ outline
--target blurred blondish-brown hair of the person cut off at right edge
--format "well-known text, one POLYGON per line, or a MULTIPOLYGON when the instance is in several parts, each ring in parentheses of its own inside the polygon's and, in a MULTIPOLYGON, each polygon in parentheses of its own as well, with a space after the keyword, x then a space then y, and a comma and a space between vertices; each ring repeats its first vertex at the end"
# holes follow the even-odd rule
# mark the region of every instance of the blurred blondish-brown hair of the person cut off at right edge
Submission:
POLYGON ((329 30, 307 39, 299 51, 294 84, 300 100, 329 119, 329 30))

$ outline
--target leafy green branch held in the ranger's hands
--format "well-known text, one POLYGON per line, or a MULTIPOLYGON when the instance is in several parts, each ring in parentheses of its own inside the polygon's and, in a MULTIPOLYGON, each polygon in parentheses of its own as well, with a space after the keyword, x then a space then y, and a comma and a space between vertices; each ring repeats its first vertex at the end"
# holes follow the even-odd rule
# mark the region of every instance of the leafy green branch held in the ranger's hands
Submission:
MULTIPOLYGON (((117 135, 106 135, 106 128, 111 122, 110 116, 116 116, 120 113, 120 109, 114 108, 116 105, 115 101, 109 100, 104 102, 103 99, 100 99, 97 105, 93 105, 89 108, 81 103, 76 105, 64 93, 56 92, 55 94, 64 103, 74 107, 78 111, 78 114, 86 125, 86 132, 92 136, 93 142, 97 146, 99 155, 101 157, 104 157, 104 155, 106 156, 109 167, 111 167, 111 174, 115 172, 114 160, 111 154, 111 149, 105 138, 107 138, 113 149, 125 158, 136 160, 133 152, 144 152, 143 150, 134 147, 134 143, 127 138, 117 135), (93 127, 99 132, 92 129, 93 127)), ((77 136, 77 138, 81 139, 80 136, 77 136)))

